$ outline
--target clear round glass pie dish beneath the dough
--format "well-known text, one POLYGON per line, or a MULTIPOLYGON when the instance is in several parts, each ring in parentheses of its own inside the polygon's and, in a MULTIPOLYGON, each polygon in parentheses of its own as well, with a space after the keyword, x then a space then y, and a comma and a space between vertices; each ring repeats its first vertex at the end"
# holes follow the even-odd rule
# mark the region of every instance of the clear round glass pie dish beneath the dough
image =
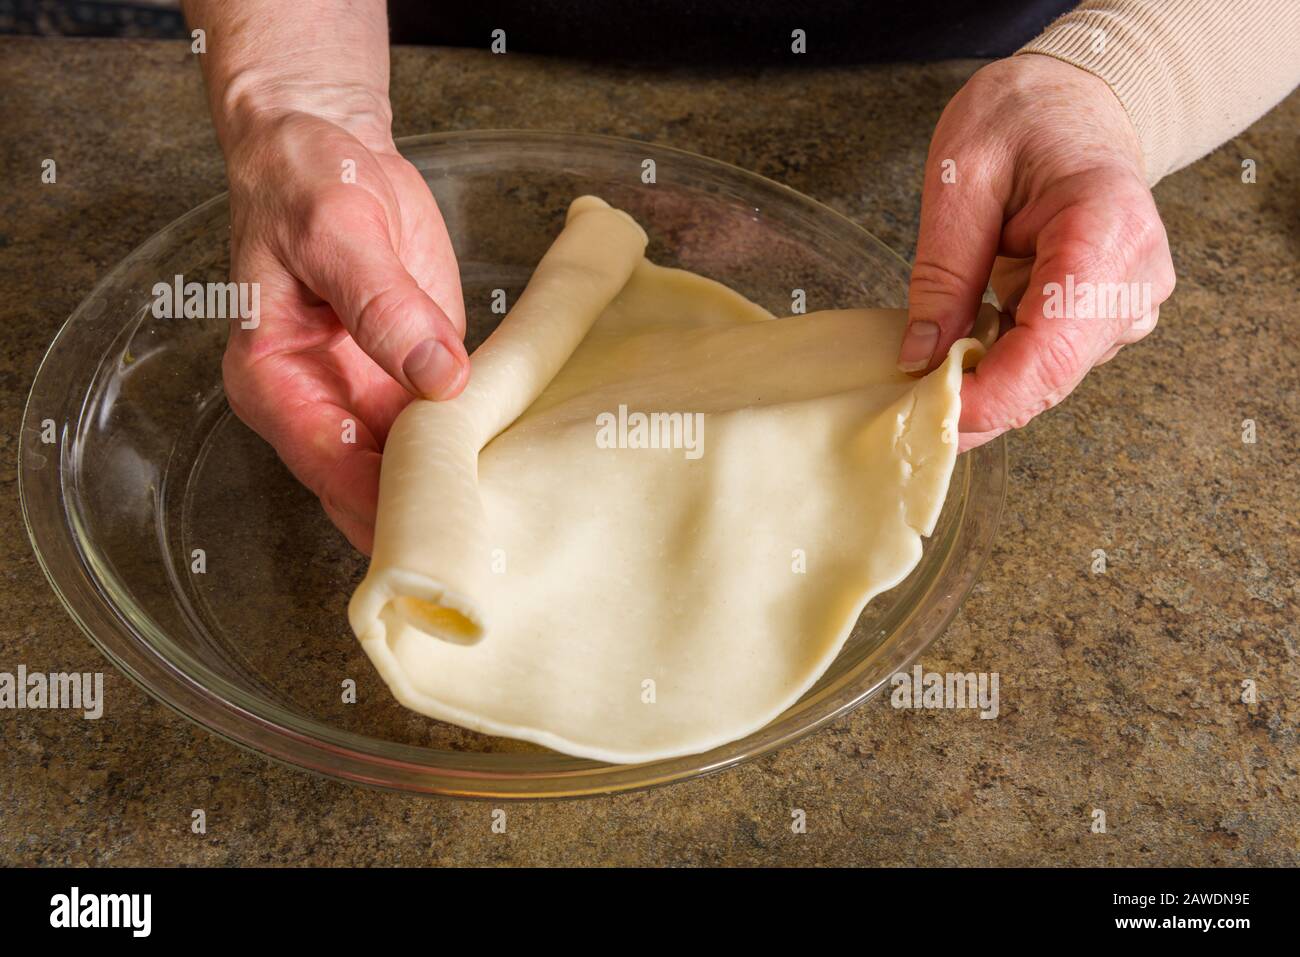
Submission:
MULTIPOLYGON (((550 133, 404 140, 456 246, 471 346, 491 330, 594 192, 650 234, 651 259, 720 280, 777 315, 902 306, 907 268, 840 215, 679 150, 550 133), (644 161, 655 182, 644 183, 644 161)), ((875 694, 942 633, 1002 508, 1006 452, 958 459, 924 558, 863 612, 829 671, 770 726, 705 754, 601 765, 413 714, 376 676, 344 609, 365 570, 315 499, 230 412, 224 320, 152 316, 155 282, 225 281, 226 198, 182 216, 113 269, 60 330, 23 416, 20 488, 36 555, 69 614, 159 701, 222 737, 352 781, 468 797, 642 788, 748 761, 875 694), (51 434, 53 433, 53 434, 51 434), (53 441, 47 441, 48 438, 53 441), (203 549, 204 573, 194 573, 203 549), (343 681, 356 681, 356 703, 343 681)))

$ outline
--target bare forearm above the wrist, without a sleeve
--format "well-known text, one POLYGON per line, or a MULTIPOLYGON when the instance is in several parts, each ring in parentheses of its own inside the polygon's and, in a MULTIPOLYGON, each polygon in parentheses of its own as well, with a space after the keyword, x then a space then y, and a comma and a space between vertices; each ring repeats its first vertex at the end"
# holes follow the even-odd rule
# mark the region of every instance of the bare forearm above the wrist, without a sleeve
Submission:
POLYGON ((291 112, 330 120, 370 147, 391 137, 384 0, 183 0, 217 138, 233 143, 291 112))

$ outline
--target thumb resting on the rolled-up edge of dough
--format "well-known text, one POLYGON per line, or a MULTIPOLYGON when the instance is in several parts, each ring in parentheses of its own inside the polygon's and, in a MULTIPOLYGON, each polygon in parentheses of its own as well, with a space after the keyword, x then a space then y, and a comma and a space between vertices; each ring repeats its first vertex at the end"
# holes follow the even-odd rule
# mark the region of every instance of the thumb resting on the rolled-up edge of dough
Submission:
POLYGON ((407 272, 386 229, 350 225, 339 221, 302 248, 302 280, 407 390, 429 399, 460 394, 469 358, 455 325, 407 272))

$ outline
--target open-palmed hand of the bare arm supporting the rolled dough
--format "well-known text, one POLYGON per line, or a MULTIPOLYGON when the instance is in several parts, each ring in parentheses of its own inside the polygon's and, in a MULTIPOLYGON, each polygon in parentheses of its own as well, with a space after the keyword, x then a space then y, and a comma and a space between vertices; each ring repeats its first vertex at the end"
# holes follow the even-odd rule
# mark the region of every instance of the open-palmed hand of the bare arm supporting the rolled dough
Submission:
POLYGON ((369 553, 393 420, 469 374, 442 215, 386 133, 363 143, 307 113, 259 117, 226 165, 231 278, 260 283, 256 328, 231 324, 226 395, 369 553))

